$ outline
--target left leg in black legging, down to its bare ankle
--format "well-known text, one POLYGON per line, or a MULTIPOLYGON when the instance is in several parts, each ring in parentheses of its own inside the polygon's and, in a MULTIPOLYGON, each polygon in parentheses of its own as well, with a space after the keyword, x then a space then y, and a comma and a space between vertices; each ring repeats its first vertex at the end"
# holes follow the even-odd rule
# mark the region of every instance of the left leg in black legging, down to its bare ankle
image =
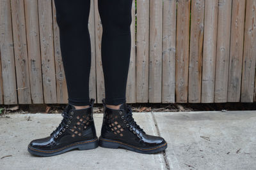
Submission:
POLYGON ((88 31, 90 0, 54 0, 60 28, 60 47, 68 103, 77 109, 88 108, 91 44, 88 31))

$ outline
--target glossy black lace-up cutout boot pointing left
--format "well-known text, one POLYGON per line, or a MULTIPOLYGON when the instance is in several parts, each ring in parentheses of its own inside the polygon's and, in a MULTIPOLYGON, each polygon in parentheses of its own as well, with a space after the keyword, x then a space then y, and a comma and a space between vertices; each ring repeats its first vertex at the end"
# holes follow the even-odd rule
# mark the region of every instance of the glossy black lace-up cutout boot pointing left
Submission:
POLYGON ((90 107, 76 110, 70 104, 65 108, 63 120, 49 137, 35 139, 28 145, 28 152, 42 157, 58 155, 78 148, 89 150, 97 148, 98 138, 96 136, 93 122, 93 103, 90 100, 90 107))

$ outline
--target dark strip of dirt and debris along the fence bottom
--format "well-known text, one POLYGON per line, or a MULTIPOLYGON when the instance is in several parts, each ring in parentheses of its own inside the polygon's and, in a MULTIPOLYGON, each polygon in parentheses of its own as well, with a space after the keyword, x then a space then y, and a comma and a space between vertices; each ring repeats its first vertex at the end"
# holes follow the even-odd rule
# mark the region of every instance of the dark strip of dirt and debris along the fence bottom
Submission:
MULTIPOLYGON (((179 112, 179 111, 235 111, 256 110, 256 103, 134 103, 133 112, 179 112)), ((1 105, 0 116, 8 113, 61 113, 67 104, 19 104, 1 105)), ((94 104, 93 113, 102 113, 102 104, 94 104)))

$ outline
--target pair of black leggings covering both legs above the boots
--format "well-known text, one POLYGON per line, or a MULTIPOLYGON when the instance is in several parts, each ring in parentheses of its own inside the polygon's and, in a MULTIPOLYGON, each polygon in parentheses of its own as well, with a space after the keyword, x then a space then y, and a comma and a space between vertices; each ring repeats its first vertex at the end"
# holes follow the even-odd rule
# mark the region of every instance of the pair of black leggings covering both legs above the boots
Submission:
MULTIPOLYGON (((98 1, 103 33, 101 59, 104 72, 106 104, 125 103, 125 91, 131 55, 132 0, 98 1)), ((54 0, 60 28, 60 47, 68 103, 90 103, 89 76, 91 43, 88 31, 90 0, 54 0)))

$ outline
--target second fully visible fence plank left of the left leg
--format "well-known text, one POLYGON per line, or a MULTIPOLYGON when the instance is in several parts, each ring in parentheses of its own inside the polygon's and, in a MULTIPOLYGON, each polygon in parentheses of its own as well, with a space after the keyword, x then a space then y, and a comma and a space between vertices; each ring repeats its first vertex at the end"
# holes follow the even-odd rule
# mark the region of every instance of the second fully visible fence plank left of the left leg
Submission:
POLYGON ((44 94, 42 85, 38 2, 35 0, 24 0, 24 7, 31 100, 32 103, 39 104, 44 103, 44 94))

